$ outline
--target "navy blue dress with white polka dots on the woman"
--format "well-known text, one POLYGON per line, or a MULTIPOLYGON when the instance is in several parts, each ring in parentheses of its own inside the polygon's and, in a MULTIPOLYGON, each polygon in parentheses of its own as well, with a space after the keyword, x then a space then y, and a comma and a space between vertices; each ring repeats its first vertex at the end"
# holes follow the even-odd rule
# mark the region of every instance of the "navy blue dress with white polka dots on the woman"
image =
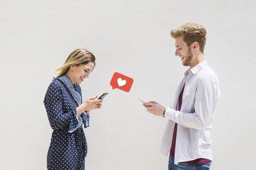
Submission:
MULTIPOLYGON (((54 79, 44 99, 47 116, 53 129, 47 154, 47 169, 84 170, 87 143, 82 126, 78 126, 78 104, 69 87, 73 87, 72 82, 67 76, 64 78, 68 84, 60 79, 54 79)), ((75 93, 81 97, 81 87, 76 83, 74 86, 75 93)), ((85 122, 84 117, 79 118, 85 122)))

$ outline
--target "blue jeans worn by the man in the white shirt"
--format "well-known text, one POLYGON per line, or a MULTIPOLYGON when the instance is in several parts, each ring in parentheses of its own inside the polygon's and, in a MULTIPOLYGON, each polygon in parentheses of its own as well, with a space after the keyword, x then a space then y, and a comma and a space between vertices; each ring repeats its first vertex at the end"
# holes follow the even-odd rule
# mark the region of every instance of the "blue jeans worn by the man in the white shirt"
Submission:
POLYGON ((179 162, 177 165, 174 164, 174 159, 169 156, 168 170, 210 170, 211 162, 202 165, 191 165, 187 163, 179 162))

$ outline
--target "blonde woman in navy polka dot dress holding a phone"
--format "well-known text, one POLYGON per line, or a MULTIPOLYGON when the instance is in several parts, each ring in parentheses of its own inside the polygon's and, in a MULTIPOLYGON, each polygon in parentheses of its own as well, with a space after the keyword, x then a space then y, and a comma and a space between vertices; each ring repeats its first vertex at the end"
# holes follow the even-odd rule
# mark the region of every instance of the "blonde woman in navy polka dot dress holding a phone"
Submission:
POLYGON ((82 125, 88 127, 90 110, 101 108, 102 99, 90 97, 82 102, 79 84, 89 77, 95 57, 86 49, 76 49, 56 71, 44 105, 53 129, 47 154, 48 170, 84 170, 87 144, 82 125))

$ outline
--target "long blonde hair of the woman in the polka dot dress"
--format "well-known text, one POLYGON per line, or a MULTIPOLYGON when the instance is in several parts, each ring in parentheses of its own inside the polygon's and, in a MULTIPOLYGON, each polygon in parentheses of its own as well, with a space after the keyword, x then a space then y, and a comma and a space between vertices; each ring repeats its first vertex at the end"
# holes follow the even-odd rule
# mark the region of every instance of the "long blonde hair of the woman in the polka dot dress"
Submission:
POLYGON ((55 71, 59 71, 57 77, 67 73, 70 66, 72 65, 78 66, 80 64, 88 64, 88 62, 93 62, 95 67, 96 65, 95 60, 96 58, 94 57, 94 55, 87 49, 83 49, 83 48, 75 49, 67 57, 67 60, 65 61, 64 65, 55 70, 55 71))

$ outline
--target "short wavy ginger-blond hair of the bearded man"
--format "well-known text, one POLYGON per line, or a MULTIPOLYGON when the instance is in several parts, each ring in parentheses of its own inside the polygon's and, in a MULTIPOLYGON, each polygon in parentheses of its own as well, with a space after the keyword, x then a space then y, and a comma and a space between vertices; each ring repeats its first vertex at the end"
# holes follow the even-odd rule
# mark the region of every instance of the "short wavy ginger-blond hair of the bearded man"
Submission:
POLYGON ((204 46, 206 42, 206 29, 200 24, 185 23, 177 29, 171 31, 173 38, 184 36, 184 42, 190 46, 193 42, 198 42, 200 51, 204 53, 204 46))

